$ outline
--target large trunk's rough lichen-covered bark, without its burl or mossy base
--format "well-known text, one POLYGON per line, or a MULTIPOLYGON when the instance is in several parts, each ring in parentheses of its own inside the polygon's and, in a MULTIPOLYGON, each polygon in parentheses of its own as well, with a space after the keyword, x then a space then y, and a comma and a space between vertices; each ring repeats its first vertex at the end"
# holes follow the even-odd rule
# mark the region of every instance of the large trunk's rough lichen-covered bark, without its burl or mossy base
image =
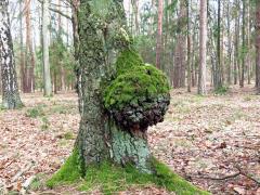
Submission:
POLYGON ((81 78, 78 88, 81 121, 75 147, 83 169, 90 164, 113 160, 119 165, 131 162, 143 172, 152 172, 146 131, 121 130, 103 105, 103 82, 115 75, 115 57, 128 47, 118 39, 126 29, 122 0, 81 0, 78 20, 80 43, 76 74, 81 78), (100 4, 104 9, 96 9, 100 4))

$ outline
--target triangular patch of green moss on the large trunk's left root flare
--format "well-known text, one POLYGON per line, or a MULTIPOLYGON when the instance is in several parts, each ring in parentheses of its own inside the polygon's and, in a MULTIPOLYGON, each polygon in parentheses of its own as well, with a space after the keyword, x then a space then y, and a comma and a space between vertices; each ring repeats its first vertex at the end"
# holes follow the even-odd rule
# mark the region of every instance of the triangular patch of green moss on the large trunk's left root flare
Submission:
POLYGON ((78 151, 75 150, 62 168, 47 182, 47 186, 53 187, 79 181, 82 176, 79 161, 78 151))

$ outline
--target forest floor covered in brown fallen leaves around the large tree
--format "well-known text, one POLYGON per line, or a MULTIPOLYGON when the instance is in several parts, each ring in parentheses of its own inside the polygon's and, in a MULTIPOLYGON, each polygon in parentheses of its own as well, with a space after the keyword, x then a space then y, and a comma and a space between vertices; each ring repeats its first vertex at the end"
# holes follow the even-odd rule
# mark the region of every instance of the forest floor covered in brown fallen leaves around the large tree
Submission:
MULTIPOLYGON (((0 194, 2 186, 23 191, 32 179, 31 194, 79 193, 77 186, 48 190, 43 184, 72 152, 77 95, 22 99, 23 109, 0 109, 0 194)), ((195 185, 212 194, 260 195, 260 96, 252 87, 207 96, 174 90, 165 121, 148 134, 153 154, 195 185)), ((141 192, 167 194, 154 186, 121 194, 141 192)))

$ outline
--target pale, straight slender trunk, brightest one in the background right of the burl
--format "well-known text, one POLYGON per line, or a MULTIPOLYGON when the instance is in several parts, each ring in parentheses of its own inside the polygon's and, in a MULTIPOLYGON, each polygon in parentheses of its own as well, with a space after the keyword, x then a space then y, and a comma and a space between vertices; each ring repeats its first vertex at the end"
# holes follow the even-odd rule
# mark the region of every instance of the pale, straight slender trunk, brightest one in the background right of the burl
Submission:
POLYGON ((198 94, 207 93, 207 1, 200 0, 198 94))

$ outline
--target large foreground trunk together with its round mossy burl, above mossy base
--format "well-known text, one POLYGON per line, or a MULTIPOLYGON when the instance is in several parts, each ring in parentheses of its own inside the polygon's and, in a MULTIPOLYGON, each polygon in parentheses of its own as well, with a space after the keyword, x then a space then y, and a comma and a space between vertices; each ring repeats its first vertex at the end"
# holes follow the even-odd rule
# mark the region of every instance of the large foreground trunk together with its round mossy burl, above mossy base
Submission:
POLYGON ((164 119, 169 84, 131 46, 122 0, 103 5, 81 0, 78 13, 81 121, 76 148, 83 169, 112 160, 152 173, 147 129, 164 119))

